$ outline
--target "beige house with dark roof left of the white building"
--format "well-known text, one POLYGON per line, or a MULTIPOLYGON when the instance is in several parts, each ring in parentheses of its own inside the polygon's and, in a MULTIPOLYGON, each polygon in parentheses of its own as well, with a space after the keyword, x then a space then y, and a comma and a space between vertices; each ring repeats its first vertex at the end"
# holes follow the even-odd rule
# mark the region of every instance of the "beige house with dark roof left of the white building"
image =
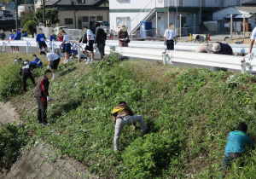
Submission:
MULTIPOLYGON (((41 5, 41 0, 37 4, 41 5)), ((39 6, 35 7, 38 9, 39 6)), ((108 0, 48 0, 45 8, 59 10, 61 21, 58 26, 81 29, 82 26, 93 26, 94 21, 109 21, 108 0)))

